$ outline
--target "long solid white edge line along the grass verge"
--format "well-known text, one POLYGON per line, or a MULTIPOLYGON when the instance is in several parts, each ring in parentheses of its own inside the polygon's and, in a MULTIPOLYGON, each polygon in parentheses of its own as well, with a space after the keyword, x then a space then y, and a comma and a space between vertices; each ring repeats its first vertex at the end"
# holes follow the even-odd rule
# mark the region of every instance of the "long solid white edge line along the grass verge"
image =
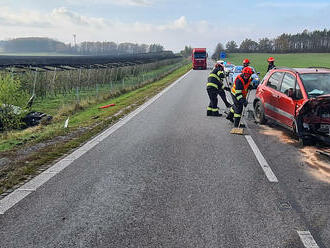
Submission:
POLYGON ((96 137, 94 137, 92 140, 88 141, 86 144, 84 144, 79 149, 72 152, 70 155, 65 157, 64 159, 57 162, 55 165, 44 171, 43 173, 39 174, 35 178, 33 178, 31 181, 24 184, 19 189, 16 189, 12 193, 10 193, 8 196, 4 197, 0 200, 0 215, 4 214, 8 209, 13 207, 16 203, 23 200, 26 196, 28 196, 33 191, 36 191, 37 188, 39 188, 41 185, 46 183, 49 179, 57 175, 57 173, 61 172, 63 169, 68 167, 74 160, 81 157, 83 154, 88 152, 90 149, 92 149, 94 146, 99 144, 102 140, 110 136, 112 133, 117 131, 119 128, 124 126, 129 120, 131 120, 134 116, 139 114, 141 111, 143 111, 145 108, 147 108, 149 105, 151 105, 153 102, 155 102, 158 98, 160 98, 165 92, 167 92, 169 89, 174 87, 177 83, 179 83, 182 79, 184 79, 192 70, 181 76, 179 79, 177 79, 174 83, 172 83, 170 86, 165 88, 163 91, 158 93, 156 96, 151 98, 149 101, 141 105, 139 108, 137 108, 135 111, 124 117, 122 120, 118 121, 116 124, 111 126, 110 128, 106 129, 96 137))

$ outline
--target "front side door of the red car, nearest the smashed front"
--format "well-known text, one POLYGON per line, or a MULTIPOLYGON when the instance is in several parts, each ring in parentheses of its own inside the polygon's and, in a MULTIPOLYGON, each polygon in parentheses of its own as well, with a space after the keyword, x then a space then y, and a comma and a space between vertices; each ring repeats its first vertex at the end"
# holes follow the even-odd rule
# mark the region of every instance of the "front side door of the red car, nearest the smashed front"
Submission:
POLYGON ((279 98, 277 102, 277 112, 280 115, 278 121, 292 128, 294 123, 296 100, 295 88, 297 78, 295 74, 286 72, 283 76, 282 84, 280 87, 279 98))

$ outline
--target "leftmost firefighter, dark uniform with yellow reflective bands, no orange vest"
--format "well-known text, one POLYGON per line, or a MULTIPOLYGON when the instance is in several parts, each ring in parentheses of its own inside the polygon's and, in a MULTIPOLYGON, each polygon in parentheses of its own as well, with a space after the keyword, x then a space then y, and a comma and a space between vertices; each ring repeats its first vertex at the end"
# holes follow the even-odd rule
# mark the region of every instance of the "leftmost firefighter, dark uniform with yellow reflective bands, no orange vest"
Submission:
POLYGON ((207 107, 207 116, 222 116, 222 114, 219 113, 218 108, 218 95, 220 95, 227 108, 231 106, 231 104, 227 101, 226 93, 224 91, 230 90, 228 87, 225 87, 223 83, 224 77, 224 67, 222 63, 217 62, 209 74, 206 84, 207 94, 210 98, 210 104, 207 107))

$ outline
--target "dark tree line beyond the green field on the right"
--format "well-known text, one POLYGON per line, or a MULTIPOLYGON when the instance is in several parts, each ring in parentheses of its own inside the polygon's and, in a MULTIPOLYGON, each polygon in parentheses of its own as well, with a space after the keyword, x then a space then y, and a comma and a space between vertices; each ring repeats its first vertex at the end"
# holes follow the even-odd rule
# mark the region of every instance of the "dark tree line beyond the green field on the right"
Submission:
POLYGON ((328 53, 330 30, 309 32, 305 29, 297 34, 283 33, 274 39, 244 39, 239 46, 232 40, 226 43, 225 50, 232 53, 328 53))

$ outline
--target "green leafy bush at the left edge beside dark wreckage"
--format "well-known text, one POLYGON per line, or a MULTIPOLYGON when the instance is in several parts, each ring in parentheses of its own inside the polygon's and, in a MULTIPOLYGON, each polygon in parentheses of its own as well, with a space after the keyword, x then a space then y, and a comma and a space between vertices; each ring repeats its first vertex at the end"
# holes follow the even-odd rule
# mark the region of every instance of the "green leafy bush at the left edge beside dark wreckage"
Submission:
POLYGON ((26 114, 24 108, 28 93, 22 89, 21 82, 11 75, 0 75, 0 130, 19 128, 26 114))

